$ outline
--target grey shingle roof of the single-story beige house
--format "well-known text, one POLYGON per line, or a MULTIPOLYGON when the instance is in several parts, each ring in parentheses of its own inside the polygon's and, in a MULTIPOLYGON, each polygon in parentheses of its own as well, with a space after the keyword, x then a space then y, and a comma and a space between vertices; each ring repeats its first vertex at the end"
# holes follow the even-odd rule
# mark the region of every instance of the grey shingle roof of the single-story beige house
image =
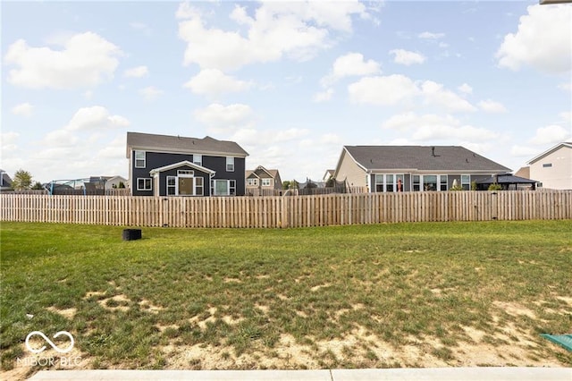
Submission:
POLYGON ((344 149, 366 171, 510 171, 460 146, 344 146, 344 149))

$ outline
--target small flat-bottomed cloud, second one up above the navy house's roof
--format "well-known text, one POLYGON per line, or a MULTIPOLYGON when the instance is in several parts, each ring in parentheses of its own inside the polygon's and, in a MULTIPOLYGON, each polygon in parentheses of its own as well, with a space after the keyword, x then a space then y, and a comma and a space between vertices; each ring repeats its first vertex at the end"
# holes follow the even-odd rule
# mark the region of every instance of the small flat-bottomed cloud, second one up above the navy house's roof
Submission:
POLYGON ((183 87, 190 89, 195 94, 220 97, 224 93, 248 90, 252 87, 252 83, 236 80, 218 69, 203 69, 183 87))

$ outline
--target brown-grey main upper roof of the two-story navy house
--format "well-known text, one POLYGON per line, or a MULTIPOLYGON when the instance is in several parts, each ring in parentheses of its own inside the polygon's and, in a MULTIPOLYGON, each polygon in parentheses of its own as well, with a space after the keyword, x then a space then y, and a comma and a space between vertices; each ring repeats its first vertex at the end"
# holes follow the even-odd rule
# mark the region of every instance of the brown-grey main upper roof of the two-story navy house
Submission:
POLYGON ((152 133, 127 132, 127 157, 131 149, 147 151, 200 154, 212 156, 248 157, 248 152, 236 142, 216 140, 210 136, 203 139, 182 136, 156 135, 152 133))

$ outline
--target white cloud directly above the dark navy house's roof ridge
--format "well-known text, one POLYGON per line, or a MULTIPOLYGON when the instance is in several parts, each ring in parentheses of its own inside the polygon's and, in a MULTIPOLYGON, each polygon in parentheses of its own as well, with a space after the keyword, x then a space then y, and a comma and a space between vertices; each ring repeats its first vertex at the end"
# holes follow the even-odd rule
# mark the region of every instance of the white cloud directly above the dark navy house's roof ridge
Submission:
POLYGON ((254 120, 252 108, 243 104, 223 106, 214 103, 206 106, 206 108, 196 110, 194 115, 210 131, 221 133, 250 127, 254 120))

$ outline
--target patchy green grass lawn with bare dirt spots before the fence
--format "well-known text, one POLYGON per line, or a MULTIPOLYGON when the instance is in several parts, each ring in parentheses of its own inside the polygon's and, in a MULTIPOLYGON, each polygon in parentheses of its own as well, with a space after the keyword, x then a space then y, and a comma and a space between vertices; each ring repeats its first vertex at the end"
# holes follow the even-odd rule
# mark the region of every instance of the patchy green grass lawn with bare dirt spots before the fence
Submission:
POLYGON ((572 366, 539 335, 572 332, 571 232, 2 223, 2 368, 35 330, 89 368, 572 366))

